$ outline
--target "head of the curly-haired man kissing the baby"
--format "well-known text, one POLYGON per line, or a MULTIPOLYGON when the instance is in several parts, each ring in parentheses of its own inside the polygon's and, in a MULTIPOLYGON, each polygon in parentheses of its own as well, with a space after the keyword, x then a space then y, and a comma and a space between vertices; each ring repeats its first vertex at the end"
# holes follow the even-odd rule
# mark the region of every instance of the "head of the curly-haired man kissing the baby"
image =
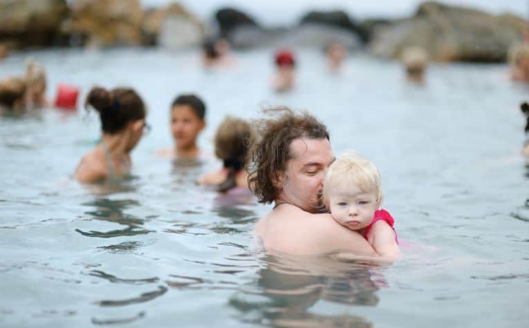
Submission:
POLYGON ((279 117, 257 121, 261 139, 250 150, 248 184, 261 203, 286 202, 315 213, 334 160, 327 128, 308 113, 268 111, 279 117))

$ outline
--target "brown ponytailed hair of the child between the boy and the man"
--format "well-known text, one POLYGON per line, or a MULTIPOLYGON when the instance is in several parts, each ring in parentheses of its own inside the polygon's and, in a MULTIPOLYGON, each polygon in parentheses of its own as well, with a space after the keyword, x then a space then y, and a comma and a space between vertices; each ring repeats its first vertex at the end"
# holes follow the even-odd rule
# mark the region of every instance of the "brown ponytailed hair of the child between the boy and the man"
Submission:
POLYGON ((228 168, 228 177, 217 186, 217 191, 228 191, 236 186, 235 175, 245 168, 250 144, 254 140, 252 126, 243 119, 226 117, 216 131, 215 155, 228 168))

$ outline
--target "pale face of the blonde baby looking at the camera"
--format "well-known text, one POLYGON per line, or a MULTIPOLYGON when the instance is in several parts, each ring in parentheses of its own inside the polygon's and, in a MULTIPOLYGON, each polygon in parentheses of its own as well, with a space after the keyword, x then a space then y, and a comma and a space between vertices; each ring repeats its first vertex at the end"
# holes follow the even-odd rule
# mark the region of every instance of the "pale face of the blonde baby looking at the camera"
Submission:
POLYGON ((334 220, 351 230, 368 226, 380 205, 375 193, 366 193, 355 185, 336 188, 329 193, 328 200, 334 220))

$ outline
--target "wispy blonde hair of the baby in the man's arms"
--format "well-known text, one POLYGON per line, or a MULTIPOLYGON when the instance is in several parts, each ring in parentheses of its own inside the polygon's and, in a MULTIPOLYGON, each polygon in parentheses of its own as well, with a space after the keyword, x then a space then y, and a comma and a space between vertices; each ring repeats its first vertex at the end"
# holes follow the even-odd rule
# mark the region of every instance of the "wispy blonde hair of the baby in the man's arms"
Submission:
POLYGON ((375 193, 377 202, 382 202, 380 173, 373 162, 355 151, 346 151, 336 158, 325 176, 322 200, 329 207, 329 193, 335 188, 356 184, 365 193, 375 193))

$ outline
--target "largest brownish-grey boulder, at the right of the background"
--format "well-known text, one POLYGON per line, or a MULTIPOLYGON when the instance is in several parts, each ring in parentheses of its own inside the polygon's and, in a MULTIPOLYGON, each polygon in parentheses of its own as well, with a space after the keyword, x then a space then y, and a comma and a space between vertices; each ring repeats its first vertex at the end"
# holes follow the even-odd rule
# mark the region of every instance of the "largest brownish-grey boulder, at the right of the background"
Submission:
POLYGON ((418 46, 436 61, 505 61, 510 44, 523 39, 526 22, 513 15, 423 3, 411 19, 375 31, 375 55, 398 58, 404 48, 418 46))

